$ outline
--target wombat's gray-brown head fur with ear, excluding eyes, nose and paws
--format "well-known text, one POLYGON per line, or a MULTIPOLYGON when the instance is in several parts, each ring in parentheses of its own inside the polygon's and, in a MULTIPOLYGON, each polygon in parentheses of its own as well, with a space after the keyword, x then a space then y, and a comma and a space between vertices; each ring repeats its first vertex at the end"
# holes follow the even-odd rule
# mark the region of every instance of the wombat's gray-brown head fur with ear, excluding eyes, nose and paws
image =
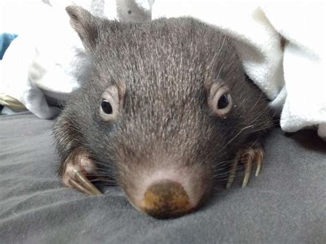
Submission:
POLYGON ((89 152, 98 172, 115 179, 131 201, 144 175, 173 168, 205 199, 221 162, 261 140, 270 126, 265 96, 246 76, 230 38, 213 27, 191 18, 118 23, 78 7, 67 12, 91 67, 54 126, 61 162, 76 150, 89 152), (215 82, 230 90, 226 118, 208 106, 215 82), (110 85, 123 103, 108 123, 99 110, 110 85))

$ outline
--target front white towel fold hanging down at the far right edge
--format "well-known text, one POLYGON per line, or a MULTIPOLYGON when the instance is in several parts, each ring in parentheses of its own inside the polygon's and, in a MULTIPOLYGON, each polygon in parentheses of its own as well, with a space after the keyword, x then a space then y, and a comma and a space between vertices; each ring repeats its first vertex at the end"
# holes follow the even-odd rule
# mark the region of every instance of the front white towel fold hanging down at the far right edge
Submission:
POLYGON ((294 132, 319 124, 318 135, 326 140, 325 3, 283 3, 282 8, 270 4, 263 10, 287 40, 281 127, 294 132))

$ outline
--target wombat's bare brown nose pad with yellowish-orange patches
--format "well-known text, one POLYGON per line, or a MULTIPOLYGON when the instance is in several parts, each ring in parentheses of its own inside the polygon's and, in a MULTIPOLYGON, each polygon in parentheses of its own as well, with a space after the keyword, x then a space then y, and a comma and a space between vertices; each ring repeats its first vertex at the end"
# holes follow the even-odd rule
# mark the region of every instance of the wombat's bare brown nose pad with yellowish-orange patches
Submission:
POLYGON ((142 210, 151 216, 164 219, 179 217, 192 210, 184 188, 175 181, 160 181, 146 190, 142 210))

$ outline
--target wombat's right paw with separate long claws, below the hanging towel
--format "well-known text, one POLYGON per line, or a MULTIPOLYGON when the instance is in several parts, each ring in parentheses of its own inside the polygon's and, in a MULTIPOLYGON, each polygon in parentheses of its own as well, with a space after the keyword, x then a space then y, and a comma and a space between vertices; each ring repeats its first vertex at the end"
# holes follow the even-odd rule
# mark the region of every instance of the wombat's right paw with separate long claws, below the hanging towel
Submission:
POLYGON ((235 157, 235 161, 230 166, 230 174, 228 175, 228 183, 226 188, 231 188, 233 181, 235 180, 235 173, 237 171, 238 163, 244 164, 244 177, 242 181, 242 187, 246 187, 250 178, 252 164, 256 164, 255 176, 259 175, 261 171, 261 164, 263 162, 264 152, 263 148, 248 148, 240 150, 235 157))

